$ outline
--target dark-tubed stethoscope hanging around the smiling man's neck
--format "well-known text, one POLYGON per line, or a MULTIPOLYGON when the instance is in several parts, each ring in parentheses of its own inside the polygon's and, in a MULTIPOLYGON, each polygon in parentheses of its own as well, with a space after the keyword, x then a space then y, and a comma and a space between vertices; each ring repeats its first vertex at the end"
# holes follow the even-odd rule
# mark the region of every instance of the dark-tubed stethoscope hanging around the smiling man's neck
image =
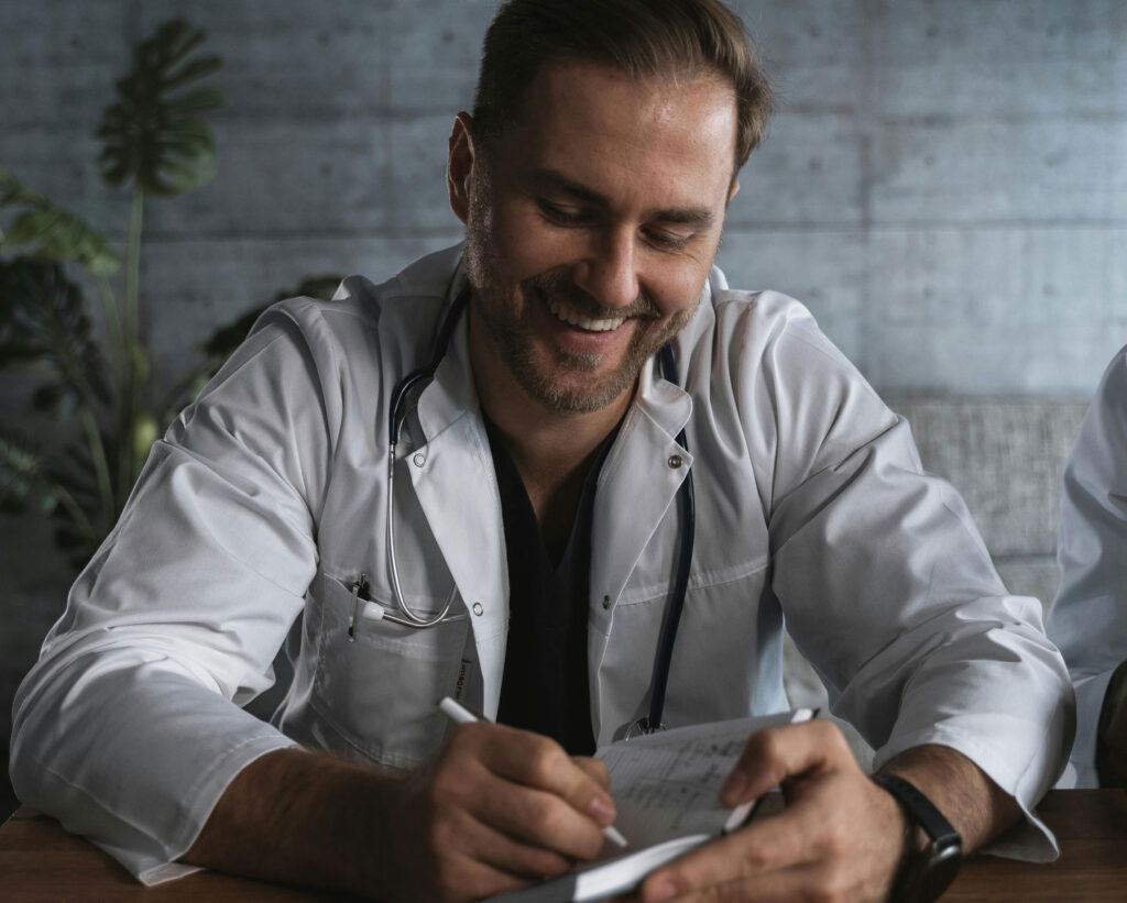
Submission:
MULTIPOLYGON (((458 587, 450 591, 445 604, 437 614, 420 615, 403 597, 402 587, 399 582, 399 567, 396 563, 396 520, 394 510, 394 480, 396 480, 396 447, 399 444, 399 432, 403 420, 407 419, 407 399, 417 385, 434 378, 438 365, 446 356, 450 348, 450 340, 454 332, 462 312, 465 310, 470 298, 470 286, 467 284, 456 295, 453 303, 446 309, 446 313, 435 334, 432 343, 431 360, 403 376, 391 390, 391 411, 388 414, 388 518, 387 518, 387 547, 388 547, 388 572, 391 576, 391 591, 396 597, 396 605, 400 615, 392 615, 383 611, 383 620, 400 624, 405 627, 423 629, 434 627, 438 624, 449 624, 454 620, 464 620, 464 614, 451 615, 450 609, 458 596, 458 587)), ((662 366, 662 376, 671 383, 677 383, 677 365, 673 359, 673 349, 666 345, 658 352, 662 366)), ((689 450, 685 440, 684 429, 677 433, 677 444, 689 450)), ((662 712, 665 708, 665 690, 669 681, 669 665, 673 661, 673 645, 677 638, 677 625, 681 623, 681 611, 685 606, 685 592, 689 589, 689 567, 693 560, 693 538, 696 533, 696 508, 693 500, 693 474, 686 470, 685 479, 678 490, 681 499, 681 517, 684 529, 681 534, 681 548, 677 554, 676 579, 673 584, 673 593, 669 596, 662 615, 662 628, 657 637, 657 650, 654 653, 654 671, 650 679, 650 703, 649 713, 627 728, 625 736, 637 734, 648 734, 663 730, 662 712)), ((363 589, 363 578, 353 588, 353 596, 358 598, 360 590, 363 589)))

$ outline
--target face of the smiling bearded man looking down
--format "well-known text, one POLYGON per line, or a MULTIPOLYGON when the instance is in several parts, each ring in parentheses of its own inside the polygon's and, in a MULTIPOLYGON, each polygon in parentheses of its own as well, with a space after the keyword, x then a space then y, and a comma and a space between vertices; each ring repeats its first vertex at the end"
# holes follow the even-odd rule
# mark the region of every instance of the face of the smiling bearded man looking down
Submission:
POLYGON ((696 309, 735 190, 735 129, 716 75, 540 72, 521 123, 461 163, 471 341, 504 364, 500 378, 560 412, 632 390, 696 309))

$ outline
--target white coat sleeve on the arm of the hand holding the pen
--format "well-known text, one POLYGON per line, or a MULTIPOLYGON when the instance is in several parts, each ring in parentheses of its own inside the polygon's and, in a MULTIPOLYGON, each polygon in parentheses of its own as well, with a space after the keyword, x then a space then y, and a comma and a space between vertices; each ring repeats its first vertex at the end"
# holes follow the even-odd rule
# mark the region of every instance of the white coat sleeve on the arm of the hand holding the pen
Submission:
POLYGON ((239 706, 316 571, 331 392, 268 314, 153 447, 16 697, 19 797, 147 883, 192 870, 174 860, 230 780, 293 745, 239 706))

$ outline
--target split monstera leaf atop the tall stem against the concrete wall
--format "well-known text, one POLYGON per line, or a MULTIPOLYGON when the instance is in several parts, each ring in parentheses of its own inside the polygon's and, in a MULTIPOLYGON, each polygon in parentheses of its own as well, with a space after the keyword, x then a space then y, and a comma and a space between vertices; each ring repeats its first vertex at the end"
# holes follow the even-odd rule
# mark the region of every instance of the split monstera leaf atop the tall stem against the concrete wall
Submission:
POLYGON ((183 90, 223 64, 212 55, 188 59, 204 37, 184 19, 172 19, 133 51, 133 70, 117 81, 117 102, 97 133, 105 142, 101 176, 110 185, 134 180, 149 194, 175 197, 215 175, 215 142, 198 114, 221 107, 223 93, 183 90))

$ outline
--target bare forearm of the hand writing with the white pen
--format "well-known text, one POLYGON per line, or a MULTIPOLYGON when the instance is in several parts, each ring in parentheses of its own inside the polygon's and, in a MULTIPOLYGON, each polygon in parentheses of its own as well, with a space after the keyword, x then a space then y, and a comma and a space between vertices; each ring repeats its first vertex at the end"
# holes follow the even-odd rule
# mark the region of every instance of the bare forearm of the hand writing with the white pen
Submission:
POLYGON ((304 750, 267 753, 224 790, 183 861, 374 895, 399 778, 304 750))

